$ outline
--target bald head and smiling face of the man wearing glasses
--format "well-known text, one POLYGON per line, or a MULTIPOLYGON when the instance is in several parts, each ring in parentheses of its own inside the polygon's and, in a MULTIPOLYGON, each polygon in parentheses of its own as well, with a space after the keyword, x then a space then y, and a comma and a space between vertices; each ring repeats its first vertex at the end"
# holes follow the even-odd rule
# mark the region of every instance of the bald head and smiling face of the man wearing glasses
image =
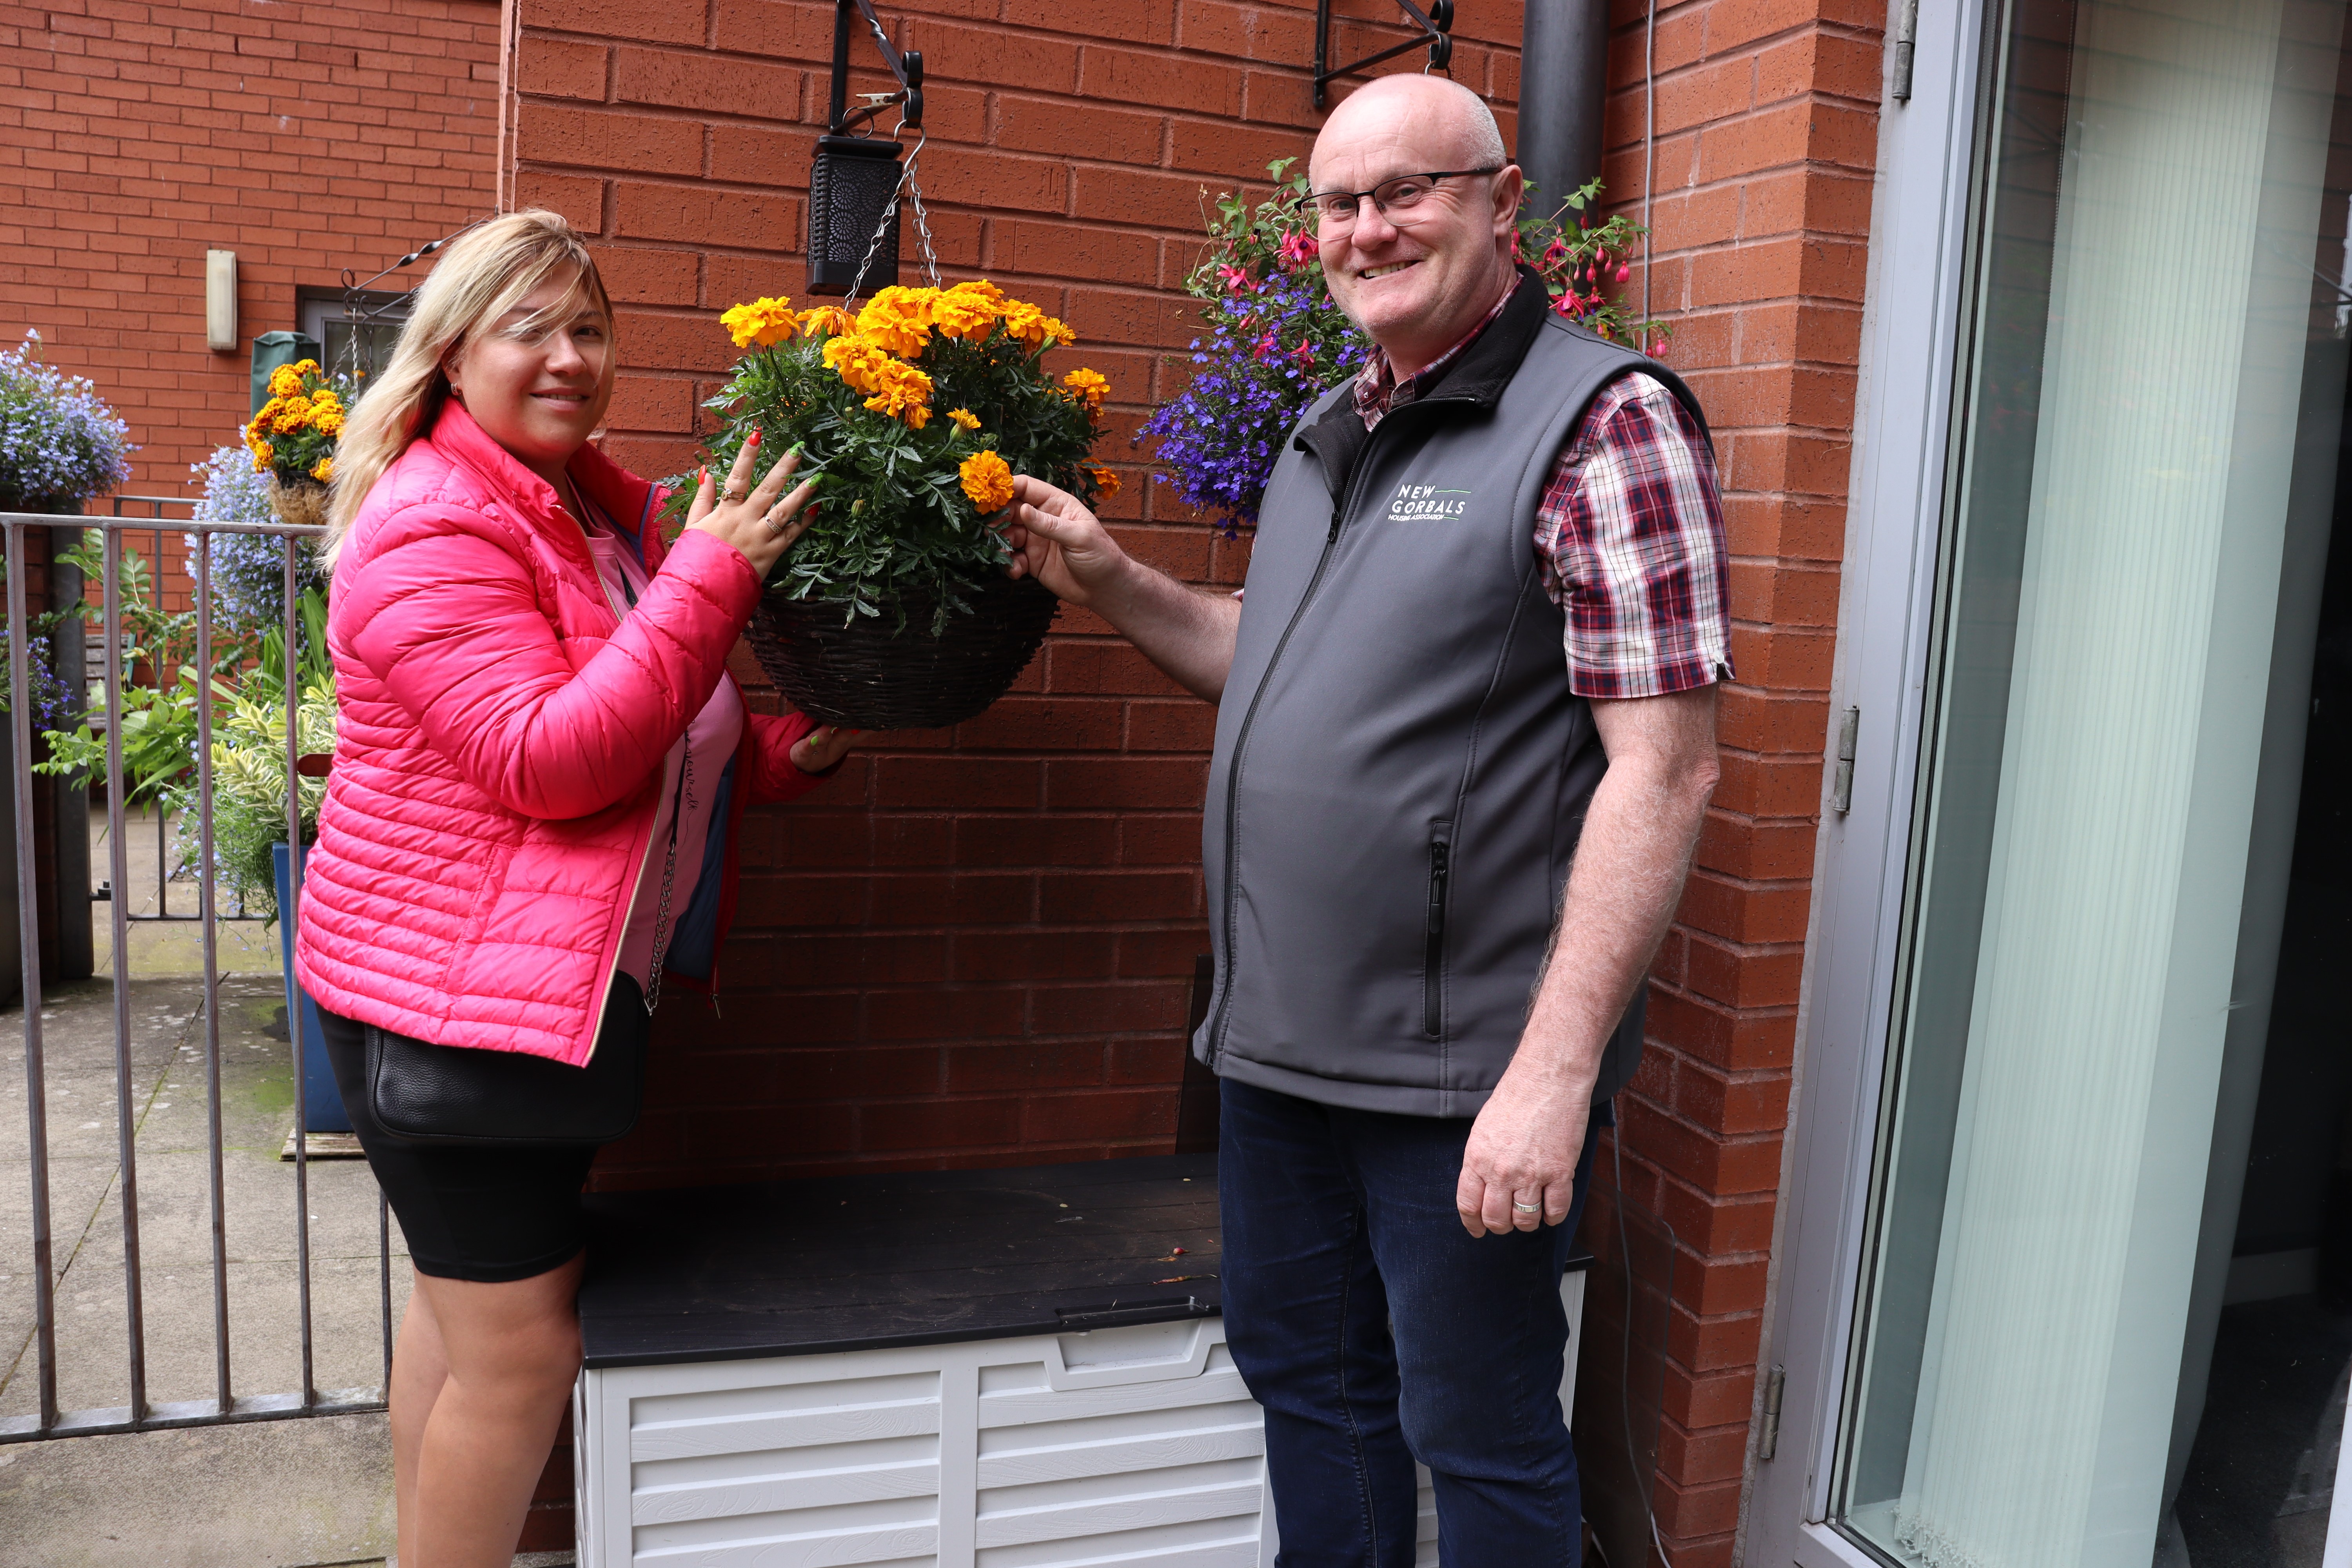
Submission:
MULTIPOLYGON (((1308 179, 1317 193, 1369 190, 1397 174, 1494 167, 1501 139, 1479 120, 1477 99, 1444 78, 1378 78, 1324 122, 1308 179)), ((1519 169, 1505 165, 1444 179, 1395 216, 1364 197, 1350 228, 1319 233, 1331 299, 1399 376, 1458 343, 1510 287, 1522 188, 1519 169)))

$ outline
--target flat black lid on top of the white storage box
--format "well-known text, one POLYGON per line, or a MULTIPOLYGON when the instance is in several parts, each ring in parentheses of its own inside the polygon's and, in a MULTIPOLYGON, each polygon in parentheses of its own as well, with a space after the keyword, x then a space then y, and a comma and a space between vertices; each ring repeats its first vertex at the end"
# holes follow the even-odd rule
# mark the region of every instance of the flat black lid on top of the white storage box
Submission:
POLYGON ((588 1366, 943 1345, 1221 1309, 1216 1154, 586 1201, 588 1366))

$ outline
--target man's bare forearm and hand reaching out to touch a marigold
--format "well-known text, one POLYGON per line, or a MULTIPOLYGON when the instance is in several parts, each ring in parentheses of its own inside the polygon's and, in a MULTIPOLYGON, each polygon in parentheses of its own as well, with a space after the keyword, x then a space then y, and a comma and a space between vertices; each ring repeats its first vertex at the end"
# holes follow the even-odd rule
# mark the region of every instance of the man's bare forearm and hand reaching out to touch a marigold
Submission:
POLYGON ((1014 557, 1011 576, 1033 576, 1061 599, 1108 621, 1176 684, 1211 703, 1225 693, 1242 607, 1230 595, 1195 592, 1138 562, 1077 496, 1014 475, 1014 503, 997 524, 1014 557))

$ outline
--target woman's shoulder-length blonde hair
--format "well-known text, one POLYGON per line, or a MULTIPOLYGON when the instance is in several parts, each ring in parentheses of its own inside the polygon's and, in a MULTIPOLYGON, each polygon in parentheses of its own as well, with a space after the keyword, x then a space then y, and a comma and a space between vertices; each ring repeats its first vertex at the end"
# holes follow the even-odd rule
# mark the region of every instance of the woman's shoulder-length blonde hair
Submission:
MULTIPOLYGON (((327 548, 322 550, 329 567, 343 548, 343 536, 350 534, 353 517, 367 503, 367 491, 409 449, 409 442, 433 433, 433 421, 449 402, 447 364, 532 289, 564 268, 579 270, 579 287, 506 331, 529 336, 553 327, 572 315, 586 292, 604 313, 609 341, 612 299, 604 294, 604 280, 597 277, 588 244, 562 216, 541 209, 508 212, 468 230, 442 252, 433 275, 416 289, 416 308, 409 313, 407 327, 400 329, 393 362, 353 404, 343 437, 336 442, 327 548)), ((607 355, 604 374, 612 376, 612 369, 614 357, 607 355)))

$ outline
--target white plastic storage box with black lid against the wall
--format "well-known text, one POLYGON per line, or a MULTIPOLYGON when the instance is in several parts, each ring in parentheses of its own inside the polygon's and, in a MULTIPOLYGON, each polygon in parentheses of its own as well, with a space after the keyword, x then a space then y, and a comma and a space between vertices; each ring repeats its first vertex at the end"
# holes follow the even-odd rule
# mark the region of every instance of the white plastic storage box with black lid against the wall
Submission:
POLYGON ((1272 1568, 1211 1154, 593 1204, 581 1568, 1272 1568))

